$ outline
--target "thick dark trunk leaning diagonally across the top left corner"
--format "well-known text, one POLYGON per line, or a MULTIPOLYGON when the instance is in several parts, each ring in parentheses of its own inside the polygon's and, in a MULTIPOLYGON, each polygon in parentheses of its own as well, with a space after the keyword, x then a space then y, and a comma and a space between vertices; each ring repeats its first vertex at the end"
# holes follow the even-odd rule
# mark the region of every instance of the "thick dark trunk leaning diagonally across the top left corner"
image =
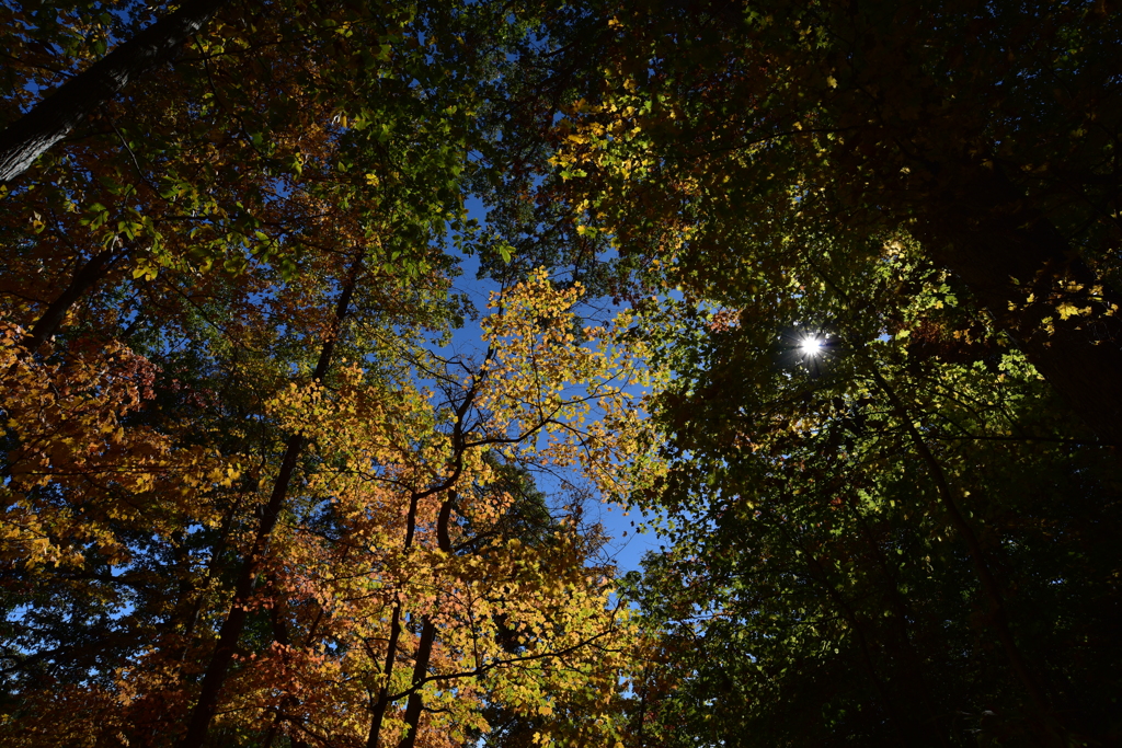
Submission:
POLYGON ((186 0, 171 16, 117 46, 0 133, 0 184, 22 174, 91 112, 159 65, 196 34, 227 0, 186 0))

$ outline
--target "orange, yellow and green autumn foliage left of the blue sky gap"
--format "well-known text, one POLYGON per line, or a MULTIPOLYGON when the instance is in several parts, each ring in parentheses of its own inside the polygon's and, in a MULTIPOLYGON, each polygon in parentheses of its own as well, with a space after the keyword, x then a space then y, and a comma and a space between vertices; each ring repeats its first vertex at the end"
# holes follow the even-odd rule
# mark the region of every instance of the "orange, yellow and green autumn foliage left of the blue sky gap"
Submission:
MULTIPOLYGON (((2 740, 614 742, 633 627, 583 507, 656 472, 633 321, 543 270, 434 352, 490 10, 268 10, 3 187, 2 740)), ((148 13, 53 12, 4 10, 17 89, 148 13)))

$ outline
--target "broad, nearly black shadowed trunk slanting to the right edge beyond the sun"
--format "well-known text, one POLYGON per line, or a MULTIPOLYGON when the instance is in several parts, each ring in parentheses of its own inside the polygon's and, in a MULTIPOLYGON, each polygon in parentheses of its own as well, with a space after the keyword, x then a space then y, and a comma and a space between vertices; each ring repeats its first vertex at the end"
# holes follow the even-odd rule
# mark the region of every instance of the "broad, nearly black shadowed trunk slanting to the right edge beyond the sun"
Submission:
POLYGON ((912 232, 966 283, 1075 414, 1104 442, 1122 446, 1122 297, 999 170, 963 166, 945 178, 951 186, 912 232), (1060 299, 1089 314, 1063 320, 1060 299), (1112 311, 1113 304, 1120 307, 1112 311))

